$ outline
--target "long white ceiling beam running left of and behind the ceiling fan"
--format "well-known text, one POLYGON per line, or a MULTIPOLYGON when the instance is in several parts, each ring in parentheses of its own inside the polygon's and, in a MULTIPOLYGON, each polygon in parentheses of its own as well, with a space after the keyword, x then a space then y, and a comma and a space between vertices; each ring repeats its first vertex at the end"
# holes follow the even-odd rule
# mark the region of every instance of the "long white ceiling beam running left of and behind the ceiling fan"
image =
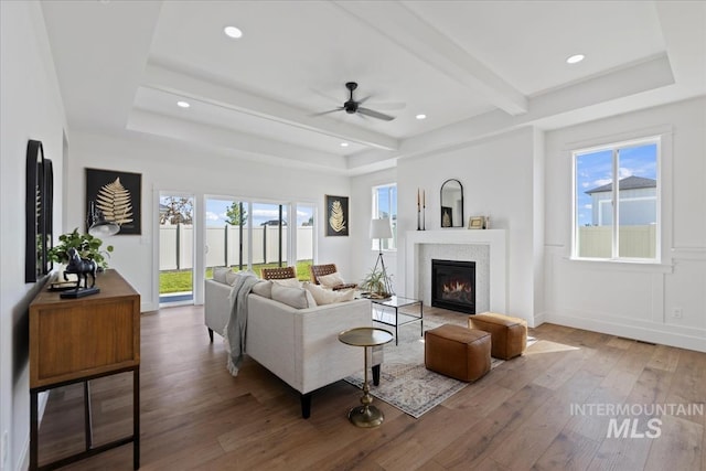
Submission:
POLYGON ((396 150, 399 147, 398 140, 389 136, 336 122, 327 117, 312 117, 309 116, 310 111, 304 109, 195 78, 156 64, 149 64, 146 67, 142 85, 376 149, 396 150))

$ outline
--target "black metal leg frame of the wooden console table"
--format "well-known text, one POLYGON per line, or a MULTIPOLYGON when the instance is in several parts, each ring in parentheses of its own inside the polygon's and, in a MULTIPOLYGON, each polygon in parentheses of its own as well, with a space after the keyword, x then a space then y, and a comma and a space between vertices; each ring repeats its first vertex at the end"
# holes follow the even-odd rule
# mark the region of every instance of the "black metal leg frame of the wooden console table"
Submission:
MULTIPOLYGON (((89 378, 82 378, 71 381, 62 384, 55 384, 45 387, 36 387, 30 389, 30 470, 53 470, 64 467, 78 460, 83 460, 88 457, 93 457, 103 451, 110 450, 116 447, 121 447, 127 443, 132 443, 132 468, 140 468, 140 367, 129 368, 126 371, 132 371, 132 435, 130 437, 120 438, 118 440, 110 441, 98 447, 93 446, 93 420, 90 410, 90 386, 89 381, 100 376, 92 376, 89 378), (39 467, 39 421, 38 421, 38 396, 43 390, 50 390, 60 386, 67 386, 69 384, 83 383, 84 384, 84 431, 86 449, 79 453, 72 454, 66 458, 58 459, 51 463, 39 467)), ((110 375, 122 372, 111 372, 110 375)))

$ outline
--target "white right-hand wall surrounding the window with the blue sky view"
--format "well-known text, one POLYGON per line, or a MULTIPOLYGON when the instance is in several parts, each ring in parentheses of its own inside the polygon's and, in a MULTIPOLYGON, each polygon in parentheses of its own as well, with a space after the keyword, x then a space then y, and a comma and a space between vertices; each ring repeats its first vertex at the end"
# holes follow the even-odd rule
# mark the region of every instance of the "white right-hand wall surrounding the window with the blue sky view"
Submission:
POLYGON ((702 97, 547 132, 546 321, 706 351, 705 130, 702 97), (666 132, 662 265, 569 260, 570 150, 655 132, 666 132))

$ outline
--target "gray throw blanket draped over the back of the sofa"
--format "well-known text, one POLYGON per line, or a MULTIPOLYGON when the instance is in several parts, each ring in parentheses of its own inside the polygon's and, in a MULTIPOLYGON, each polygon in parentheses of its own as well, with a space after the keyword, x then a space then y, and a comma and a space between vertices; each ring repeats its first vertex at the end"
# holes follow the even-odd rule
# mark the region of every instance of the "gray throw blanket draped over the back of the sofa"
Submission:
POLYGON ((223 340, 228 352, 227 367, 233 376, 238 375, 238 370, 245 355, 245 333, 247 328, 247 296, 253 286, 259 279, 247 271, 237 274, 228 300, 231 301, 231 315, 225 324, 223 340))

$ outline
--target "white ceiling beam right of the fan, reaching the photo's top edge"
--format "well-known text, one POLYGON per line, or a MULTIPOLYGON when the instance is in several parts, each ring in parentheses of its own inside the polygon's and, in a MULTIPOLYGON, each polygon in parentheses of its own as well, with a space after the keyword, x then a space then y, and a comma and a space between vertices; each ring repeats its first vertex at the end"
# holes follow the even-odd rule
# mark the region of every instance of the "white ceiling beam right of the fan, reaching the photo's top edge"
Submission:
POLYGON ((527 113, 527 98, 520 90, 404 4, 393 1, 334 3, 505 113, 513 116, 527 113))

